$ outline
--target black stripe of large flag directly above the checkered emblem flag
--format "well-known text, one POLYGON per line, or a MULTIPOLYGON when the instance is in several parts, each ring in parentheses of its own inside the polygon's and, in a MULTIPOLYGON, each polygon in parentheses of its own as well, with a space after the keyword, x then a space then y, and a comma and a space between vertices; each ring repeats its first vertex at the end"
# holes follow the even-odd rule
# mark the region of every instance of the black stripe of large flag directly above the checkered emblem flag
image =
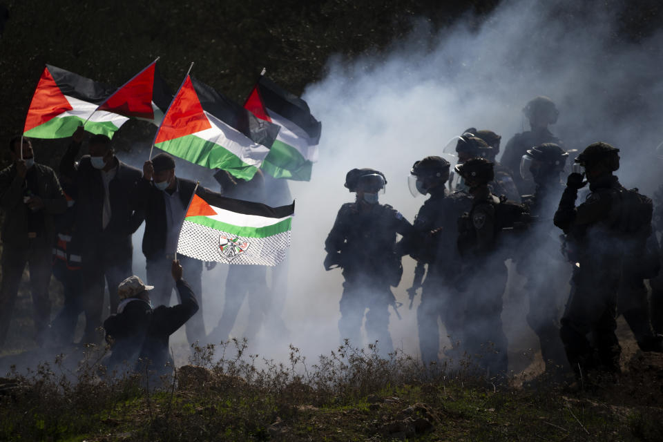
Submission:
POLYGON ((202 81, 191 77, 191 84, 193 84, 200 104, 206 112, 211 113, 225 124, 236 128, 253 142, 271 148, 280 130, 278 124, 259 119, 256 115, 218 93, 211 86, 202 83, 202 81))

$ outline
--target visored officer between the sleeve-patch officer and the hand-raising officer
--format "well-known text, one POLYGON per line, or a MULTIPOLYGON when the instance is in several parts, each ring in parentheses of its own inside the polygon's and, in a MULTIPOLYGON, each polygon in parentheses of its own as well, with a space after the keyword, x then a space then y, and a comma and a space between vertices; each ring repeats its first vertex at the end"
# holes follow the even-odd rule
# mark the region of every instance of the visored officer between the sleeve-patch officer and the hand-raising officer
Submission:
POLYGON ((520 164, 524 180, 536 184, 534 195, 523 195, 530 213, 537 217, 523 238, 517 254, 517 271, 527 278, 524 290, 529 298, 527 323, 539 337, 546 373, 557 374, 566 365, 559 338, 561 285, 570 277, 570 265, 560 253, 559 238, 550 232, 557 203, 564 191, 559 175, 564 171, 568 153, 554 143, 528 149, 520 164))

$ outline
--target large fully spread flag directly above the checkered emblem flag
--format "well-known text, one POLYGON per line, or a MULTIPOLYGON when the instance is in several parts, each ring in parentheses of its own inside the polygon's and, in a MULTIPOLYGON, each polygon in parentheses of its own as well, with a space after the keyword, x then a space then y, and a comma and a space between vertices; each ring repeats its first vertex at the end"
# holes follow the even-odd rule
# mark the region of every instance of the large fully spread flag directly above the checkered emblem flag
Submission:
POLYGON ((186 76, 154 145, 209 169, 250 180, 269 153, 278 126, 256 118, 216 90, 186 76))

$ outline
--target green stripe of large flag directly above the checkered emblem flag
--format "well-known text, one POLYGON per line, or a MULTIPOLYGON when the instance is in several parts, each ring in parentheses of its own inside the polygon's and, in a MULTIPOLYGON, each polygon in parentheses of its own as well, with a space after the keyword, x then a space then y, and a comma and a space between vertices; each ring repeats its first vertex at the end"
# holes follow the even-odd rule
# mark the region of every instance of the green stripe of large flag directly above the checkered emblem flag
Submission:
POLYGON ((193 164, 208 169, 224 169, 242 180, 251 180, 258 171, 256 166, 243 162, 240 157, 223 146, 196 135, 186 135, 157 143, 155 146, 193 164))

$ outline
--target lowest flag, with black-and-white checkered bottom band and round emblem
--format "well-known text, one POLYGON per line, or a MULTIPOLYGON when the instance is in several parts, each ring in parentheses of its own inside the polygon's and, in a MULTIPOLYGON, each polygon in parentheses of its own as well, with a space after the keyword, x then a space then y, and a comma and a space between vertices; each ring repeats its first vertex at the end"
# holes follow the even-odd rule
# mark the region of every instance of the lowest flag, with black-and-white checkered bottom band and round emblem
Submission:
POLYGON ((193 194, 182 223, 177 253, 226 264, 277 265, 290 247, 295 203, 257 202, 193 194))

